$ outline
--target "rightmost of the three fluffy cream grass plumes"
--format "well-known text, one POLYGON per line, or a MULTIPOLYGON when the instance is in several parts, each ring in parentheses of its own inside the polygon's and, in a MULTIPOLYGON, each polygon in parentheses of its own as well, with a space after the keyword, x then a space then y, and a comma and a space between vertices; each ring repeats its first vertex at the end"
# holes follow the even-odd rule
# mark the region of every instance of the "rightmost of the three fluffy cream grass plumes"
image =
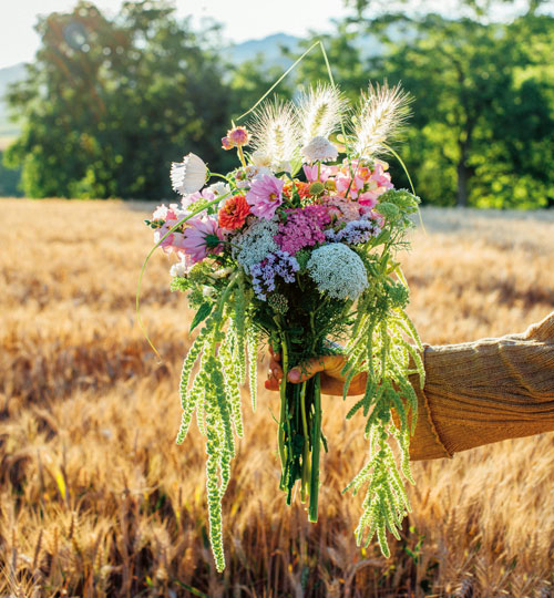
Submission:
POLYGON ((367 93, 361 93, 355 116, 352 117, 355 150, 361 156, 383 153, 384 143, 401 130, 410 114, 410 95, 400 85, 389 87, 369 84, 367 93))

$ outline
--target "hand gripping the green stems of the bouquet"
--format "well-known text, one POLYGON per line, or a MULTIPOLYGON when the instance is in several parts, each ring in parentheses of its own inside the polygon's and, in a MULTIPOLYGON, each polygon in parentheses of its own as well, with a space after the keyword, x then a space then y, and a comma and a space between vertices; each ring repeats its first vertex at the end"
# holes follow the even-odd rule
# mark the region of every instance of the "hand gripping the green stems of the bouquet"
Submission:
MULTIPOLYGON (((278 391, 284 375, 280 363, 280 354, 275 353, 271 348, 269 348, 269 370, 265 386, 267 390, 278 391)), ((321 392, 324 394, 342 396, 345 377, 340 372, 345 367, 345 355, 341 354, 315 357, 291 368, 288 371, 287 380, 293 384, 299 384, 320 372, 321 392)), ((348 389, 348 394, 363 394, 366 391, 366 372, 356 374, 348 389)))

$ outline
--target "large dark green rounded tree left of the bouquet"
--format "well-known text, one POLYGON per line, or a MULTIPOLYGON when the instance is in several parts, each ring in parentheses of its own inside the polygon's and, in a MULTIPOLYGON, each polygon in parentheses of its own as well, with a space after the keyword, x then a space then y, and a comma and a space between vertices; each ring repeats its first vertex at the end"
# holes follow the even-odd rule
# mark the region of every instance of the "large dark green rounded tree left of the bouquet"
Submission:
POLYGON ((113 20, 81 1, 37 30, 37 60, 8 95, 24 127, 6 159, 27 195, 160 198, 172 159, 192 151, 217 167, 229 107, 213 32, 147 0, 113 20))

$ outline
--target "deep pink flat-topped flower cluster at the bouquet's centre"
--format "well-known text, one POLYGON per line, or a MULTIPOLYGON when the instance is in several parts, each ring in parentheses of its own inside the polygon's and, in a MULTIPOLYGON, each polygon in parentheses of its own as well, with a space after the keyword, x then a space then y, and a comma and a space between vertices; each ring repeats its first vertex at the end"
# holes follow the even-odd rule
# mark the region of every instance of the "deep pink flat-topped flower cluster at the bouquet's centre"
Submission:
MULTIPOLYGON (((308 206, 299 209, 287 209, 287 221, 279 224, 279 233, 275 235, 275 243, 287 254, 295 255, 304 247, 312 247, 325 243, 321 226, 325 223, 325 208, 322 206, 308 206), (320 208, 311 209, 308 208, 320 208)), ((329 221, 329 220, 327 220, 329 221)), ((325 223, 327 224, 327 223, 325 223)))

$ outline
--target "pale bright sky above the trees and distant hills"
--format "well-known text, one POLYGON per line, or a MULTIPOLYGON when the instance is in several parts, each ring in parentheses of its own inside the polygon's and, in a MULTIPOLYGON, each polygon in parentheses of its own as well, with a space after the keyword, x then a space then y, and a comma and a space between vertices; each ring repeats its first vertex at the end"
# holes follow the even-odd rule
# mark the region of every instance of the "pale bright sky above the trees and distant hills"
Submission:
MULTIPOLYGON (((68 11, 76 0, 0 0, 0 69, 30 62, 39 47, 33 25, 39 14, 68 11)), ((117 11, 122 0, 96 0, 107 14, 117 11)), ((213 18, 225 25, 233 42, 285 32, 304 35, 310 29, 329 30, 330 18, 350 11, 342 0, 174 0, 181 17, 192 14, 196 25, 213 18)))

